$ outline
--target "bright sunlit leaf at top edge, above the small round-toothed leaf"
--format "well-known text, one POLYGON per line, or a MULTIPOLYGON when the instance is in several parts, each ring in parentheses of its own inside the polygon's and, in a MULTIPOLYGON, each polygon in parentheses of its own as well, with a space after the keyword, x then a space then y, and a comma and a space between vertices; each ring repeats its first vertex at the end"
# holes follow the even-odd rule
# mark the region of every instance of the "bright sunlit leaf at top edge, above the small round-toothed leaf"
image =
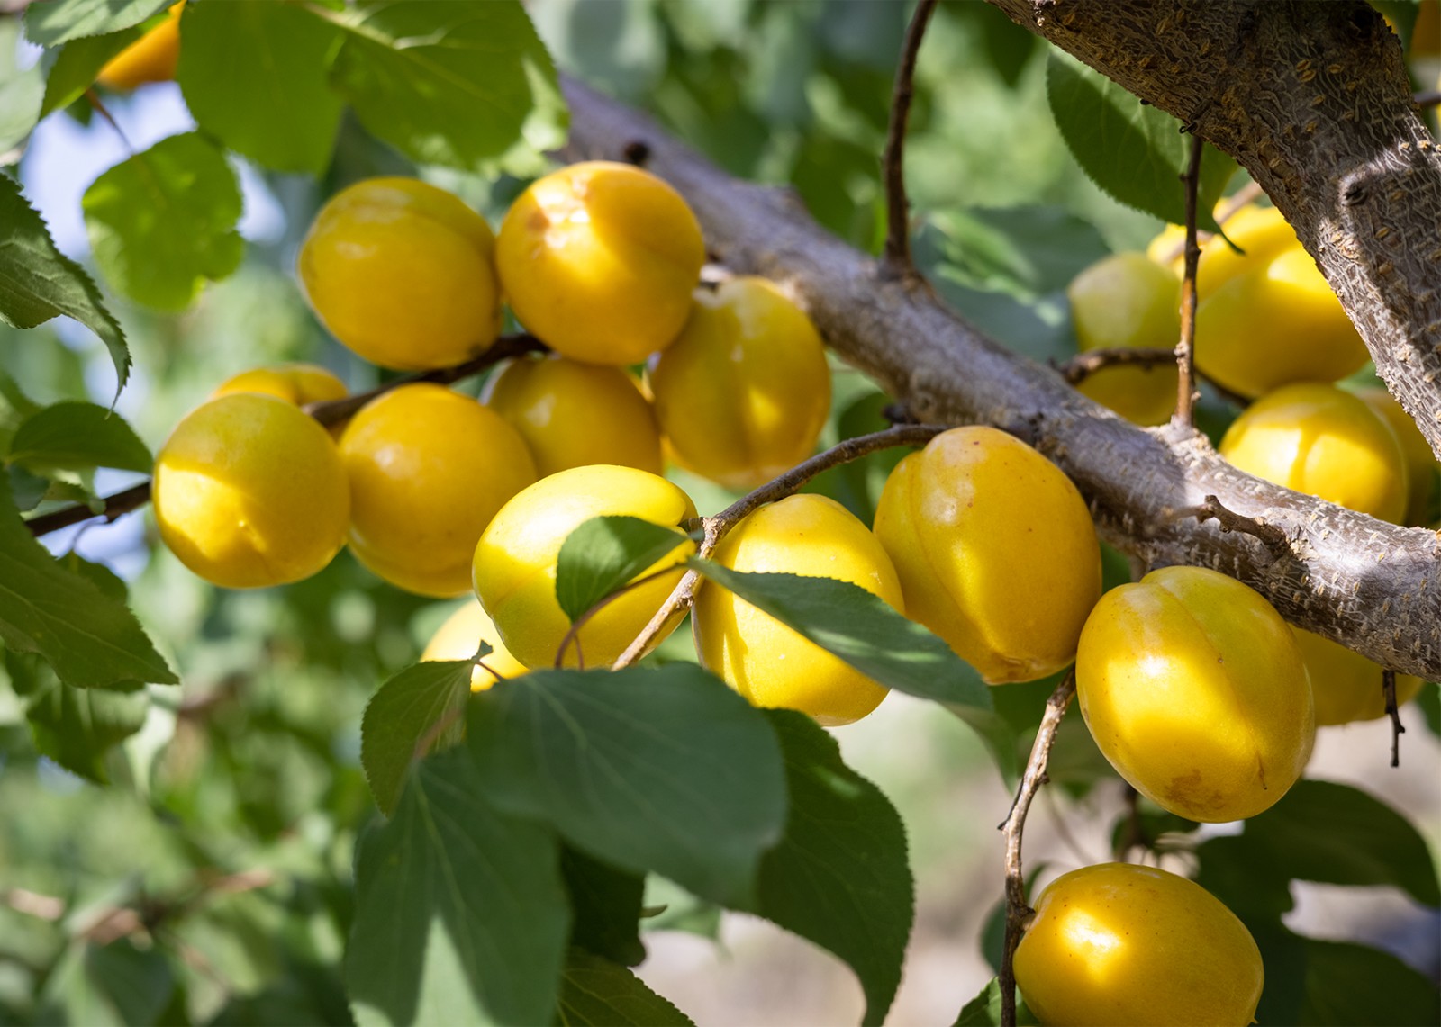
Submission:
POLYGON ((200 127, 277 171, 318 174, 340 128, 329 68, 340 29, 301 4, 202 3, 186 10, 176 78, 200 127))

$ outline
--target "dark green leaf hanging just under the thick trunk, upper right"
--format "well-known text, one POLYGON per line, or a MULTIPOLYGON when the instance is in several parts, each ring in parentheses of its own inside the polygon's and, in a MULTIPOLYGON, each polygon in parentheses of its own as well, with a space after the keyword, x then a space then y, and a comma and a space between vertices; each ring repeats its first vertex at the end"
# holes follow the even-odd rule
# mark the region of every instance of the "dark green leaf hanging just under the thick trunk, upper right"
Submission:
MULTIPOLYGON (((1180 176, 1190 163, 1190 138, 1176 118, 1055 49, 1046 62, 1046 97, 1062 138, 1097 186, 1137 210, 1185 223, 1180 176)), ((1210 210, 1236 164, 1209 144, 1200 163, 1196 225, 1216 232, 1210 210)))

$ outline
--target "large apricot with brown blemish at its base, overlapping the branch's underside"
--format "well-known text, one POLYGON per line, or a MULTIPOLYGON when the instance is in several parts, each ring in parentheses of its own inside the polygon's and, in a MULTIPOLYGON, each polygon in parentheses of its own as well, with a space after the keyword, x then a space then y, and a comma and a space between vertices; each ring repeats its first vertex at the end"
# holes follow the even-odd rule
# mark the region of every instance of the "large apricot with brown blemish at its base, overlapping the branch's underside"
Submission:
POLYGON ((1306 769, 1316 710, 1290 625, 1205 568, 1163 568, 1101 596, 1076 699, 1111 766, 1164 810, 1255 817, 1306 769))

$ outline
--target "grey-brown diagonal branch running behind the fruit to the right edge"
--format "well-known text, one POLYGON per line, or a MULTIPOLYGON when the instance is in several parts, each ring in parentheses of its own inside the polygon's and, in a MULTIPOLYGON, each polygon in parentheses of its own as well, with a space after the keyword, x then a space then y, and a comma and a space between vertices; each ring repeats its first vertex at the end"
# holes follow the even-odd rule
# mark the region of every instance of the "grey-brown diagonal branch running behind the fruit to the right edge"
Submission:
POLYGON ((566 82, 572 160, 640 153, 695 207, 728 266, 787 284, 826 341, 932 422, 993 423, 1076 483, 1101 534, 1147 565, 1223 570, 1291 622, 1398 670, 1441 677, 1441 537, 1401 529, 1242 474, 1189 429, 1143 431, 1059 375, 987 340, 924 285, 818 228, 781 190, 738 181, 648 118, 566 82), (1186 511, 1208 494, 1285 530, 1288 556, 1186 511))

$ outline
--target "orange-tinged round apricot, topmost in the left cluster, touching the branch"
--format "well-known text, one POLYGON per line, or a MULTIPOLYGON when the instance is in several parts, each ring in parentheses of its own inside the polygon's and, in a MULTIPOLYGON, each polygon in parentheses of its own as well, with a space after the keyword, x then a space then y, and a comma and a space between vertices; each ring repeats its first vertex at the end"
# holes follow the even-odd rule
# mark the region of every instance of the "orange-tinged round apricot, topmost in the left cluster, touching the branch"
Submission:
POLYGON ((706 246, 674 189, 630 164, 572 164, 535 181, 500 226, 496 261, 516 317, 558 353, 634 364, 690 313, 706 246))

